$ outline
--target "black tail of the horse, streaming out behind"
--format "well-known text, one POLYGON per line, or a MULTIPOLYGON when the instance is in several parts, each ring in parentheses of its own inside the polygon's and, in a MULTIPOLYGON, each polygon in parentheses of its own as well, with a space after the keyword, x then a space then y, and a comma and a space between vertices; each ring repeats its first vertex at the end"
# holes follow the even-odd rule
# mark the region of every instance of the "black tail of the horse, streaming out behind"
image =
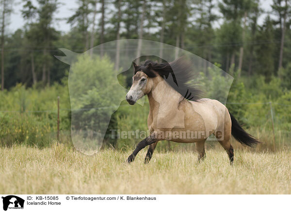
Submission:
POLYGON ((251 147, 253 147, 254 144, 260 143, 253 136, 245 132, 238 121, 230 113, 229 115, 231 119, 231 135, 235 138, 235 140, 239 141, 243 146, 247 145, 251 147))

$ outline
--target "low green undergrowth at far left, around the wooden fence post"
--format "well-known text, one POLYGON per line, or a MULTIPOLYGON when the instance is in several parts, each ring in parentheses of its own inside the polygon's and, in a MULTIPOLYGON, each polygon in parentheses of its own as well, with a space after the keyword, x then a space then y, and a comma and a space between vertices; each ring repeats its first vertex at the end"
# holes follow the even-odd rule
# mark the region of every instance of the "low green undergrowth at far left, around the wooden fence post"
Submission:
POLYGON ((60 96, 60 130, 70 129, 67 87, 54 85, 37 90, 18 84, 0 92, 0 144, 47 146, 56 139, 57 97, 60 96))

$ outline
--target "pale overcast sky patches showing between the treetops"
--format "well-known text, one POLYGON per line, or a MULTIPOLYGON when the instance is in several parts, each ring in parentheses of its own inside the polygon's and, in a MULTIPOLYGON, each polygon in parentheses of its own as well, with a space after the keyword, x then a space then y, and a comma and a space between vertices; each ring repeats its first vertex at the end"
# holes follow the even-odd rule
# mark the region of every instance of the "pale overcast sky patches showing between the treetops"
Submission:
MULTIPOLYGON (((36 0, 32 0, 35 3, 36 0)), ((76 0, 59 0, 61 3, 58 12, 56 13, 56 18, 61 18, 61 20, 56 21, 54 24, 56 29, 59 31, 69 31, 70 25, 66 23, 66 20, 62 20, 62 18, 68 18, 72 16, 74 10, 78 7, 76 0)), ((106 2, 106 1, 105 1, 106 2)), ((271 4, 273 0, 260 0, 260 7, 263 8, 265 11, 271 11, 271 4)), ((23 7, 22 0, 15 0, 13 6, 13 14, 10 18, 10 25, 8 26, 8 33, 13 33, 19 28, 22 28, 24 25, 24 20, 21 17, 21 9, 23 7)), ((259 18, 259 24, 261 24, 264 20, 265 16, 261 16, 259 18)))

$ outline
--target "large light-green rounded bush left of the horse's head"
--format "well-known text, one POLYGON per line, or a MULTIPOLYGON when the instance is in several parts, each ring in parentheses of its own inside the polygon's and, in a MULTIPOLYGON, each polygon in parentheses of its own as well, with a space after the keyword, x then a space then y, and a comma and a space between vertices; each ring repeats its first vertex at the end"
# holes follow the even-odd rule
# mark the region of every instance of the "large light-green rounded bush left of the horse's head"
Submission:
POLYGON ((107 127, 115 108, 125 98, 109 57, 82 54, 71 65, 69 92, 76 129, 107 127), (108 120, 108 121, 107 121, 108 120))

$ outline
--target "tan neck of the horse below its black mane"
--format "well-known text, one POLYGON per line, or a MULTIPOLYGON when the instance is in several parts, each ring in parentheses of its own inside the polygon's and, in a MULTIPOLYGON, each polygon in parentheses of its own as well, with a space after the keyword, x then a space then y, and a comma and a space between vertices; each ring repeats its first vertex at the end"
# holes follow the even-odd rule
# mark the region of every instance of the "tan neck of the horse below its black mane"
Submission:
POLYGON ((178 109, 178 104, 182 98, 182 95, 163 79, 154 81, 154 86, 147 96, 149 109, 153 115, 161 110, 174 112, 173 108, 178 109))

